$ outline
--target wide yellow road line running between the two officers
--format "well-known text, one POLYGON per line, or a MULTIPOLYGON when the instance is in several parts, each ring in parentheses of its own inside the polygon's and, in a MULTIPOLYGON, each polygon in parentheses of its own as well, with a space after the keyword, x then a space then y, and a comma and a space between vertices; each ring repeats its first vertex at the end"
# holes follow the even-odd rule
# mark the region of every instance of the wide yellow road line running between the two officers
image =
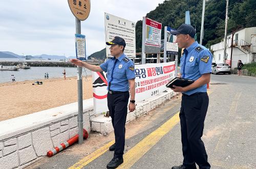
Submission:
POLYGON ((147 135, 141 142, 124 154, 124 163, 119 168, 130 168, 148 150, 150 150, 159 140, 167 134, 180 121, 179 112, 165 122, 161 127, 147 135))

